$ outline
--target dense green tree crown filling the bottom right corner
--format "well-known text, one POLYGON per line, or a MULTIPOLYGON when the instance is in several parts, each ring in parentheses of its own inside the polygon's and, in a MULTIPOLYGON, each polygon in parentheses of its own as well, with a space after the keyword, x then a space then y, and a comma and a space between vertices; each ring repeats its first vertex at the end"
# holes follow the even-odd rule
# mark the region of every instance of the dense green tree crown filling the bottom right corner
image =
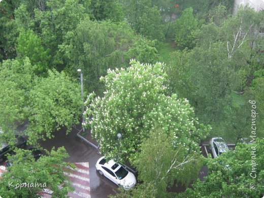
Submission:
POLYGON ((205 181, 197 181, 179 197, 261 197, 264 190, 263 146, 264 140, 258 139, 256 144, 239 144, 234 151, 208 158, 209 175, 205 181), (253 166, 254 163, 257 165, 253 166), (256 188, 250 187, 251 182, 256 188))

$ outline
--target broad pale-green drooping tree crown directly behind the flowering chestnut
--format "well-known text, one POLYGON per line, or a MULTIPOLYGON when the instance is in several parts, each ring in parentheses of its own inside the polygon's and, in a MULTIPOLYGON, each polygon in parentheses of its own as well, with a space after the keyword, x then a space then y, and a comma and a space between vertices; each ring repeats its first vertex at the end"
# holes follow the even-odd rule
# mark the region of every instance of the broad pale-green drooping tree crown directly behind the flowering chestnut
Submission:
POLYGON ((99 79, 107 74, 107 69, 128 65, 131 57, 157 61, 155 41, 137 36, 125 21, 81 21, 60 51, 72 71, 82 69, 87 79, 85 87, 96 93, 104 89, 99 79))

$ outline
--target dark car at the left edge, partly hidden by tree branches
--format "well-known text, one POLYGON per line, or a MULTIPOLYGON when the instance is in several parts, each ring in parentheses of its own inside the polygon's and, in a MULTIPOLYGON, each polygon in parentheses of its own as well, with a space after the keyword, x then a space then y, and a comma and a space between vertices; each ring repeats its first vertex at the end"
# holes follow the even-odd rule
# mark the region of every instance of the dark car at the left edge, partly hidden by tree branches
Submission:
MULTIPOLYGON (((26 140, 20 136, 16 135, 16 144, 15 147, 17 148, 25 148, 26 146, 26 140)), ((4 159, 6 158, 6 154, 7 153, 11 153, 11 147, 8 143, 4 142, 4 143, 0 143, 0 162, 4 161, 4 159)))

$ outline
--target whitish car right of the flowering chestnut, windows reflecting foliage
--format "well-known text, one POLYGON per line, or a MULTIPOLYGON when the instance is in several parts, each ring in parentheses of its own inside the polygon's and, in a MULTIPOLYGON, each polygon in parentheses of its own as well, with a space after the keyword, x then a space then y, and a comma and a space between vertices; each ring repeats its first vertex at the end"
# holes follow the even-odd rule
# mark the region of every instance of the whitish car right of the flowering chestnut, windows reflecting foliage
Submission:
POLYGON ((210 146, 214 157, 218 157, 229 150, 222 138, 212 138, 210 140, 210 146))

